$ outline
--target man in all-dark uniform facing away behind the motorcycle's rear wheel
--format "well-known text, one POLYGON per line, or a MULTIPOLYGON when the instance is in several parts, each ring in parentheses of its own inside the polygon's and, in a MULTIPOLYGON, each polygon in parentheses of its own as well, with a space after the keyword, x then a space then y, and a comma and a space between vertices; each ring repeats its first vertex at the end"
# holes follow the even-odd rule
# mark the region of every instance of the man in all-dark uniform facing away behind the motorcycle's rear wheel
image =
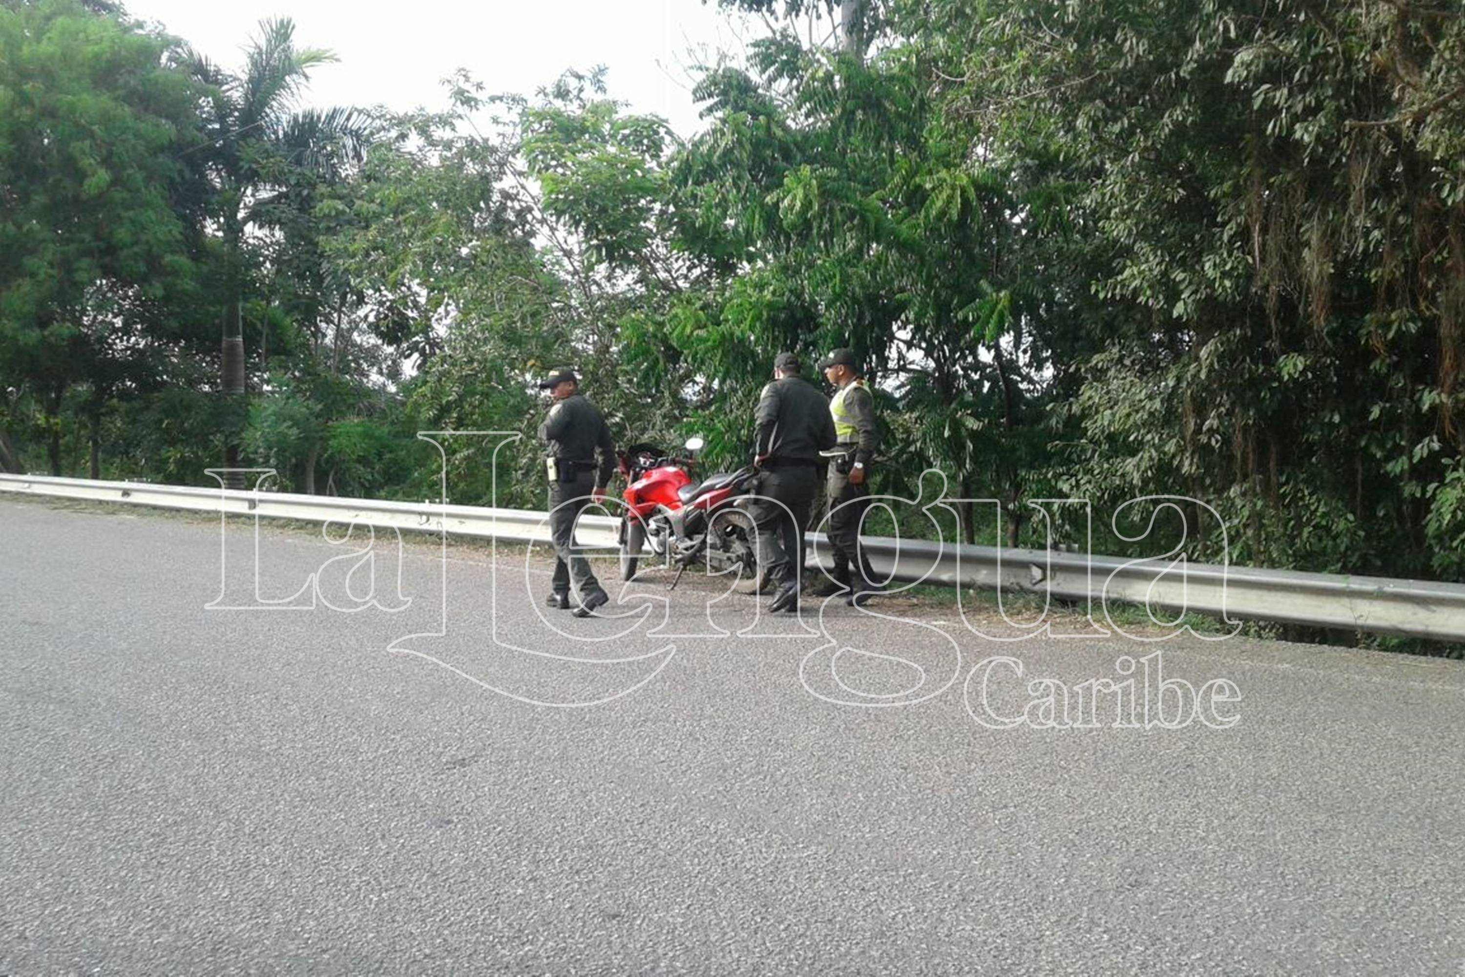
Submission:
POLYGON ((834 447, 835 439, 825 400, 801 372, 797 356, 779 353, 774 382, 763 387, 753 415, 762 498, 750 508, 757 527, 757 562, 775 587, 769 611, 798 609, 804 524, 819 492, 819 453, 834 447))

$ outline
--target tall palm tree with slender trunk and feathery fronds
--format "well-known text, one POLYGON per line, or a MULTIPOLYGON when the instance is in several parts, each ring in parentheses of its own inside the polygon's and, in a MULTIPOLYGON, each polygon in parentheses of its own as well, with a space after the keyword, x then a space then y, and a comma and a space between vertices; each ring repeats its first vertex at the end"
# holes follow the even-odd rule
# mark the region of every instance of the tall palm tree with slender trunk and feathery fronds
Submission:
MULTIPOLYGON (((208 92, 201 111, 211 139, 199 149, 208 154, 205 168, 217 207, 212 217, 223 234, 221 390, 224 397, 242 401, 246 393, 240 322, 243 242, 278 189, 271 185, 271 164, 286 161, 325 177, 338 176, 349 163, 360 161, 372 126, 355 108, 297 108, 311 70, 337 59, 325 48, 296 47, 294 22, 289 18, 259 22, 239 75, 224 72, 192 48, 185 48, 180 57, 182 66, 208 92)), ((224 467, 239 467, 239 425, 230 423, 224 467)), ((230 476, 229 483, 242 488, 242 476, 230 476)))

